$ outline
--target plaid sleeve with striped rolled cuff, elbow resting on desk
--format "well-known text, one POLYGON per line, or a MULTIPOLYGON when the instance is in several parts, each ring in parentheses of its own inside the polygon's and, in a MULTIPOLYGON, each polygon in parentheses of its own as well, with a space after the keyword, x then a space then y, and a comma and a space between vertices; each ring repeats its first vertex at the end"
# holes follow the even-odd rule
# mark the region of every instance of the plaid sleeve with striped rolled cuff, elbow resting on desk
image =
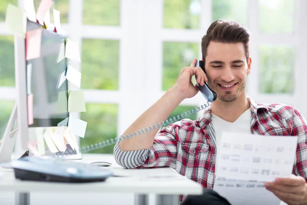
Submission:
MULTIPOLYGON (((178 129, 178 128, 177 128, 178 129)), ((157 133, 151 148, 135 151, 123 151, 119 140, 114 147, 116 162, 126 169, 173 167, 176 163, 178 132, 173 124, 157 133)), ((142 136, 140 136, 142 137, 142 136)))

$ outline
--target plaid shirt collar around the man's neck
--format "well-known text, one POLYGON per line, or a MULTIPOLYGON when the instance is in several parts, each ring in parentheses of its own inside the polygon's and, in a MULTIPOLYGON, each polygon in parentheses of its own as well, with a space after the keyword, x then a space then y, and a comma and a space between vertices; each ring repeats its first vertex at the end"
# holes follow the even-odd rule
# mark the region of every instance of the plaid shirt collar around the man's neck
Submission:
MULTIPOLYGON (((252 117, 256 118, 257 114, 262 111, 269 112, 269 109, 266 105, 258 104, 250 97, 247 97, 247 100, 250 102, 252 117)), ((199 123, 201 128, 206 127, 210 122, 211 122, 211 104, 209 104, 209 106, 204 109, 203 114, 199 118, 199 123)))

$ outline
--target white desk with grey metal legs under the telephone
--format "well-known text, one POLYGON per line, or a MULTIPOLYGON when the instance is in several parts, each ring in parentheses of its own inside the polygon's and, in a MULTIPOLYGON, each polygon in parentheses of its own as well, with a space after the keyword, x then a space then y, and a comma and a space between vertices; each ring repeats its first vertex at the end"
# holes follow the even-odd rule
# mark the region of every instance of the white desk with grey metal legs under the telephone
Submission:
MULTIPOLYGON (((14 177, 14 172, 7 170, 0 180, 1 192, 15 192, 16 204, 30 204, 30 192, 82 192, 82 193, 133 193, 135 204, 148 204, 149 194, 157 195, 157 204, 179 204, 181 194, 202 194, 203 188, 171 168, 158 169, 123 169, 116 164, 113 155, 83 155, 80 162, 87 160, 111 162, 110 167, 118 177, 109 177, 104 182, 59 183, 21 181, 14 177)), ((3 169, 1 169, 3 171, 3 169)))

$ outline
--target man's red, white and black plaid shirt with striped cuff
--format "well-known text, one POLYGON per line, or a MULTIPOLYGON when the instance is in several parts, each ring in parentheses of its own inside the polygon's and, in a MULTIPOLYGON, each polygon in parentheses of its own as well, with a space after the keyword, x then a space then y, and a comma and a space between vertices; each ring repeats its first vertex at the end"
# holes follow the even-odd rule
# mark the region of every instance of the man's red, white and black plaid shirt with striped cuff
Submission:
MULTIPOLYGON (((307 122, 293 106, 258 104, 250 98, 251 133, 258 135, 298 136, 293 174, 307 180, 307 122)), ((119 142, 119 141, 118 141, 119 142)), ((213 189, 216 141, 211 123, 211 107, 199 120, 182 119, 157 133, 150 149, 122 151, 114 156, 124 168, 171 167, 178 173, 213 189)))

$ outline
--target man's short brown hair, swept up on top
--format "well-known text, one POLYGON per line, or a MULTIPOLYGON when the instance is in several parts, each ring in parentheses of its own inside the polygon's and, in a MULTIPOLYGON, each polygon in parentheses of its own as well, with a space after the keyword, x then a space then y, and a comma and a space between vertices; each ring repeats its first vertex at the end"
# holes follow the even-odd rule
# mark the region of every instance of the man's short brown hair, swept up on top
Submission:
POLYGON ((250 32, 242 24, 229 20, 215 20, 202 38, 202 56, 206 60, 209 43, 243 43, 246 60, 249 59, 250 32))

